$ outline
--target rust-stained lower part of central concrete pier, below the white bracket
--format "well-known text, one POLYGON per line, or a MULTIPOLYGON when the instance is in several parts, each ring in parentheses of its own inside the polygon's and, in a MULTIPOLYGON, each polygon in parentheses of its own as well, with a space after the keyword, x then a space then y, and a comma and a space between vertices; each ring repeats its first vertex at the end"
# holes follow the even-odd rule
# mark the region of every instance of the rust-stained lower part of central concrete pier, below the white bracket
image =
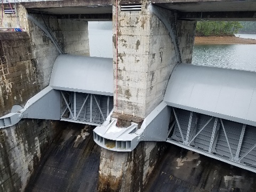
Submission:
POLYGON ((101 149, 98 191, 145 191, 165 143, 140 142, 129 153, 101 149))

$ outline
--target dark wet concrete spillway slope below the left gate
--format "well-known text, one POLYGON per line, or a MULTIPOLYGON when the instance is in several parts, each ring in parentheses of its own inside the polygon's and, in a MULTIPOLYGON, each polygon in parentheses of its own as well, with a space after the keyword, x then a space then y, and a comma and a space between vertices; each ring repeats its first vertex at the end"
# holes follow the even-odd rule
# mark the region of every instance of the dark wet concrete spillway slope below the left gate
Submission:
POLYGON ((26 191, 97 191, 100 147, 93 127, 64 123, 26 191))

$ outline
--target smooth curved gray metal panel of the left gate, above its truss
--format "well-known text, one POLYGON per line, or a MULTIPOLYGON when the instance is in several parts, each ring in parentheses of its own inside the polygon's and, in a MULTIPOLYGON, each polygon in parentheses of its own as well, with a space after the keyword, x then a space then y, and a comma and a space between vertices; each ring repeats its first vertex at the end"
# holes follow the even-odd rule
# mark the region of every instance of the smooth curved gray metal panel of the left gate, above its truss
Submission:
POLYGON ((50 86, 57 90, 113 96, 113 59, 59 55, 50 86))

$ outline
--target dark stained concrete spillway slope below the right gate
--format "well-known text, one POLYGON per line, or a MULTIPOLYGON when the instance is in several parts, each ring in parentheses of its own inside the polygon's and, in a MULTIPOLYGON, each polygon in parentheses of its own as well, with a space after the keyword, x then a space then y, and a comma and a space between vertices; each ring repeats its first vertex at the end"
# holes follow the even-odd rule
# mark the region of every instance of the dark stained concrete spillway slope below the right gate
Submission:
POLYGON ((256 191, 255 173, 168 145, 145 191, 256 191))

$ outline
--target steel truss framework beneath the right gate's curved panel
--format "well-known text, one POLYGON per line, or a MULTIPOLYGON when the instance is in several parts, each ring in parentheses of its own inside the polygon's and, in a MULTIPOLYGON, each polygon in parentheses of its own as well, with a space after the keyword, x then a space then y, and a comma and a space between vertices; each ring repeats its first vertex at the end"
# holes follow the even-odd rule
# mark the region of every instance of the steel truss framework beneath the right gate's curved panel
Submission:
POLYGON ((167 142, 256 172, 256 127, 172 108, 167 142))

